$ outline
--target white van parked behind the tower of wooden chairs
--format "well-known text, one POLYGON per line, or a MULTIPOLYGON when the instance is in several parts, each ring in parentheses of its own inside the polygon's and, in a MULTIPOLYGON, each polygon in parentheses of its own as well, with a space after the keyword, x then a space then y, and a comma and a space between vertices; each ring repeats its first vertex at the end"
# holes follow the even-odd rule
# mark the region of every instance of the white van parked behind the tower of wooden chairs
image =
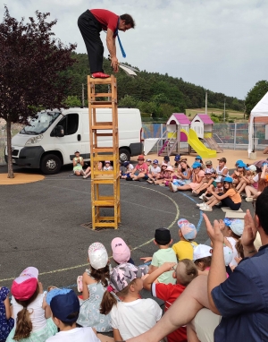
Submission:
MULTIPOLYGON (((98 121, 111 121, 111 109, 96 109, 98 121)), ((13 165, 40 168, 53 175, 72 163, 74 152, 90 159, 88 108, 42 111, 12 139, 13 165)), ((142 124, 138 109, 119 108, 119 151, 122 161, 142 153, 142 124)), ((109 139, 107 141, 107 139, 109 139)), ((102 146, 111 147, 112 137, 102 146)), ((4 151, 5 161, 7 150, 4 151)))

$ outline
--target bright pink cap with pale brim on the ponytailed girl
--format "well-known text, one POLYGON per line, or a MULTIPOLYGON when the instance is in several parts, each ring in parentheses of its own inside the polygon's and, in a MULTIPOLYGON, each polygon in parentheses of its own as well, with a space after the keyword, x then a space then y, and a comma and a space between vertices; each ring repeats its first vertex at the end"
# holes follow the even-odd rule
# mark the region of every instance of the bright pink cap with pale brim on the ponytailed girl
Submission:
POLYGON ((28 267, 23 269, 20 277, 13 280, 11 293, 19 301, 27 301, 37 290, 38 287, 38 269, 28 267))

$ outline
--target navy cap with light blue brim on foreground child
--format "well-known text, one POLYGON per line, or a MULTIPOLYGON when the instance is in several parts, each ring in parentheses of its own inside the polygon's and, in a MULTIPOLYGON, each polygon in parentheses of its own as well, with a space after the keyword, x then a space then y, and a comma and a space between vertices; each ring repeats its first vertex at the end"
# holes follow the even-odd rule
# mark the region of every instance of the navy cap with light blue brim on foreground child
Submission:
POLYGON ((80 313, 80 301, 73 290, 69 288, 55 288, 46 295, 46 303, 50 305, 54 317, 61 321, 77 321, 80 313), (77 316, 68 316, 77 312, 77 316))

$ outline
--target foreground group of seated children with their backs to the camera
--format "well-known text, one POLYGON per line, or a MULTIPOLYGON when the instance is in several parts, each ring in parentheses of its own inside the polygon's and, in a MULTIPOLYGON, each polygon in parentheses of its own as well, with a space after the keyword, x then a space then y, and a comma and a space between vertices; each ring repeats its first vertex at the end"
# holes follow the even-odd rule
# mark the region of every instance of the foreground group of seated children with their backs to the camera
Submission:
MULTIPOLYGON (((230 274, 244 257, 239 243, 244 223, 226 218, 219 223, 224 236, 226 272, 230 274)), ((143 288, 164 301, 166 312, 192 279, 209 272, 213 246, 195 242, 197 229, 187 219, 180 218, 178 226, 180 241, 173 245, 169 229, 155 230, 158 250, 153 257, 141 258, 145 263, 140 266, 135 266, 129 246, 120 237, 111 243, 113 268, 105 246, 90 244, 89 267, 78 278, 79 296, 69 288, 53 286, 44 292, 38 269, 24 269, 13 280, 12 306, 8 288, 0 289, 0 340, 123 341, 151 329, 163 312, 154 299, 141 298, 143 288), (151 261, 149 266, 147 261, 151 261), (104 335, 110 331, 113 338, 104 335)), ((187 329, 190 326, 175 330, 166 340, 186 342, 187 329)))

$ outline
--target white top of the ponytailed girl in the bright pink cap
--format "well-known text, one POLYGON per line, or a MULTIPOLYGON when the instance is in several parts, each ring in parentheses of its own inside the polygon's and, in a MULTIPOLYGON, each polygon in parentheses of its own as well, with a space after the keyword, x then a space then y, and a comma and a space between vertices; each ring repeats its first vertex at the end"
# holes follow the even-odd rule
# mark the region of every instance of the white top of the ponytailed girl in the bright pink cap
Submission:
MULTIPOLYGON (((30 312, 29 317, 32 322, 32 331, 38 331, 46 327, 45 310, 42 308, 44 294, 39 294, 37 298, 28 306, 30 312)), ((21 304, 18 304, 12 296, 11 304, 13 304, 13 314, 16 326, 17 314, 23 309, 21 304)))

